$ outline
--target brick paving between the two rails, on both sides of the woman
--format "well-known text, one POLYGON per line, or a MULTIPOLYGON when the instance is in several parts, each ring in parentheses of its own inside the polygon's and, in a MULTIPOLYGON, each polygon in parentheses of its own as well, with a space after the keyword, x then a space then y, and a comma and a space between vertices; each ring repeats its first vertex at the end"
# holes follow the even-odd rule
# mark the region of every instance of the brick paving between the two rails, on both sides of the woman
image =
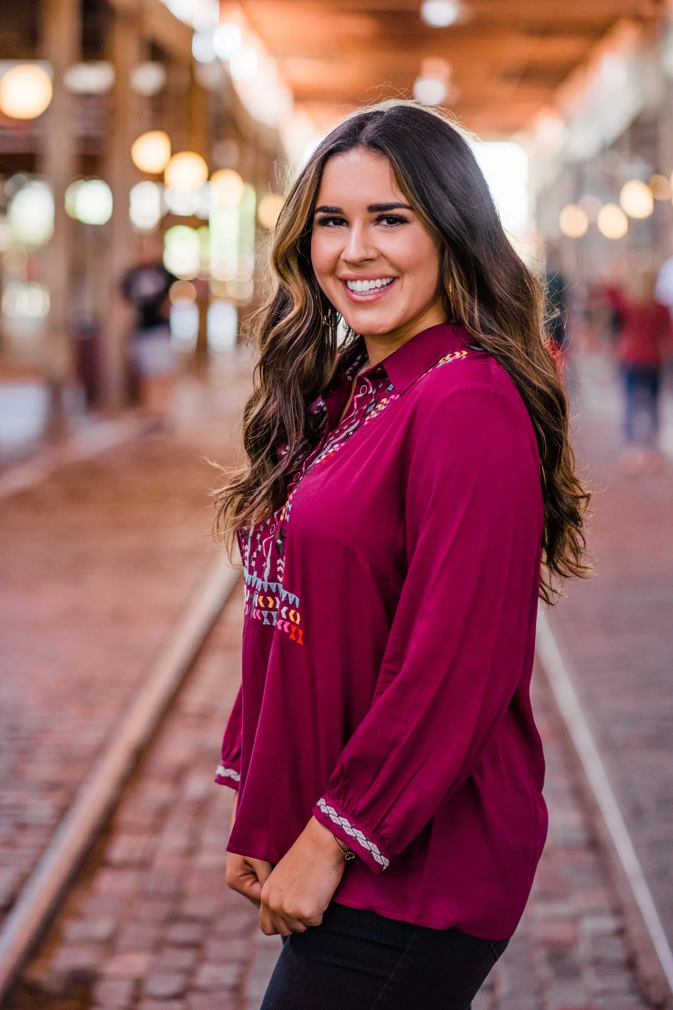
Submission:
MULTIPOLYGON (((224 886, 232 794, 212 784, 240 677, 241 609, 238 590, 10 1010, 258 1010, 279 940, 224 886)), ((539 679, 534 701, 549 842, 520 929, 473 1010, 645 1010, 572 753, 539 679)))

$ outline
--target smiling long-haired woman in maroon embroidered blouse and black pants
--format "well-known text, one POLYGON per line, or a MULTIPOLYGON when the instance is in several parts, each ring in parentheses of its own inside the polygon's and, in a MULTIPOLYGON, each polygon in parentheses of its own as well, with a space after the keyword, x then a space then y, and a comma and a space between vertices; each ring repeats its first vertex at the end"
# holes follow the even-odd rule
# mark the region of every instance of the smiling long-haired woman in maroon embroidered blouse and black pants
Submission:
POLYGON ((544 300, 410 103, 322 141, 272 265, 219 497, 246 583, 227 883, 285 940, 263 1010, 465 1010, 545 839, 538 593, 583 572, 544 300))

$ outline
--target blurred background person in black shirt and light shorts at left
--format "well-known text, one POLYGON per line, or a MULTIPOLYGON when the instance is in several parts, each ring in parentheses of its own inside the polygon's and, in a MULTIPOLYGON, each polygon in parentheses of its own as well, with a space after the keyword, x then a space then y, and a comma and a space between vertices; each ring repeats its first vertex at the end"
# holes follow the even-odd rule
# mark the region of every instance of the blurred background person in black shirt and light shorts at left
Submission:
POLYGON ((140 263, 126 274, 122 290, 137 313, 129 358, 139 385, 140 406, 156 431, 169 426, 175 388, 169 292, 176 280, 161 262, 160 236, 143 237, 140 263))

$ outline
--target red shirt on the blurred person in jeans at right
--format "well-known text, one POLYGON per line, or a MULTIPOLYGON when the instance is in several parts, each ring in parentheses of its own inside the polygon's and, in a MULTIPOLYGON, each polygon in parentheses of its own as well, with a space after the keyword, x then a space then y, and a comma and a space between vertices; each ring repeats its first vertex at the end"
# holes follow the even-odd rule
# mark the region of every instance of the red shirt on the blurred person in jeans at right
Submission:
POLYGON ((615 344, 619 360, 624 365, 663 365, 673 349, 670 310, 654 298, 629 298, 616 287, 605 288, 605 296, 621 316, 622 329, 615 344))

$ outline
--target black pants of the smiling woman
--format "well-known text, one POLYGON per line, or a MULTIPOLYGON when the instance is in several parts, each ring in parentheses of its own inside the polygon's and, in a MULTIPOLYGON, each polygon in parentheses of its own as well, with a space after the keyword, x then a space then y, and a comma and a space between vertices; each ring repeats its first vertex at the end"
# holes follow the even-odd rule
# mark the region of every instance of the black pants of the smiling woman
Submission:
POLYGON ((469 1010, 507 945, 332 904, 284 941, 261 1010, 469 1010))

